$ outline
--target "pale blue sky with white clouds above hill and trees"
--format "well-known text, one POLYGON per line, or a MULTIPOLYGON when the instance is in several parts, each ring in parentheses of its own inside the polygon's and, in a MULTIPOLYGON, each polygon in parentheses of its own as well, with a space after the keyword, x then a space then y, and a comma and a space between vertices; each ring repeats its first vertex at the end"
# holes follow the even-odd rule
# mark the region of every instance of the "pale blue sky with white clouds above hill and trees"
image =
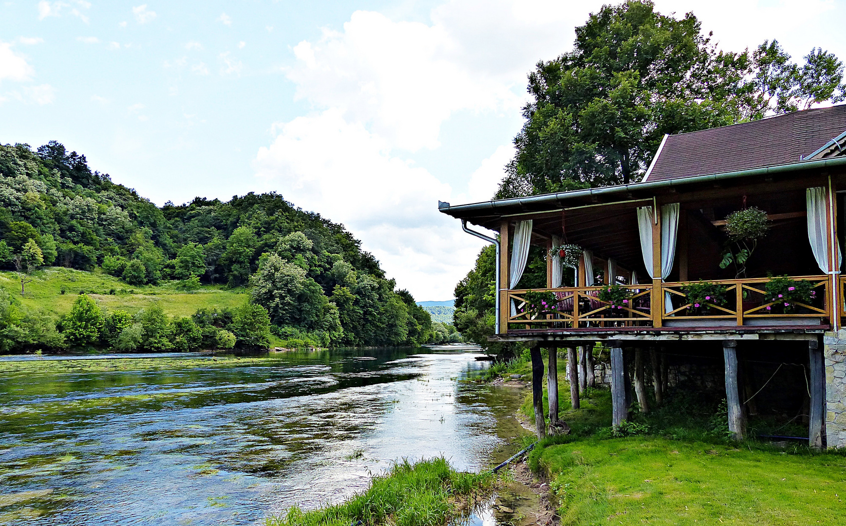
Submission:
MULTIPOLYGON (((437 211, 488 200, 525 83, 594 1, 0 0, 0 142, 58 140, 157 205, 275 191, 342 222, 420 301, 484 243, 437 211)), ((846 58, 846 0, 657 1, 722 49, 846 58)))

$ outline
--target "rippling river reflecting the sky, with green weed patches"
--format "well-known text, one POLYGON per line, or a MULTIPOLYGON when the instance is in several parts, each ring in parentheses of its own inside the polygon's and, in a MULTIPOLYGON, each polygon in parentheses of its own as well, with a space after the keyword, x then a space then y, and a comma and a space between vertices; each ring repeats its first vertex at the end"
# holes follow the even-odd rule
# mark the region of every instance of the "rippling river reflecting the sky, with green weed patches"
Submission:
POLYGON ((2 357, 0 523, 262 524, 402 458, 479 471, 523 393, 463 381, 472 351, 2 357))

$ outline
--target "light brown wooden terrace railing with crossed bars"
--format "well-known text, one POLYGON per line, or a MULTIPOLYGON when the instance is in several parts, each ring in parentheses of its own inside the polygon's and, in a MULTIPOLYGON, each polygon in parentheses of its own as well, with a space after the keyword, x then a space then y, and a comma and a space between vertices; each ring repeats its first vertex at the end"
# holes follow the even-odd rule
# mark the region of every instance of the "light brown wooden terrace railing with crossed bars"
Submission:
POLYGON ((675 328, 706 328, 728 326, 814 326, 821 325, 833 315, 846 316, 846 277, 840 278, 840 299, 837 313, 832 312, 831 280, 825 276, 791 277, 811 283, 810 300, 794 302, 787 309, 778 301, 767 298, 766 282, 770 279, 751 278, 718 280, 711 283, 722 287, 722 301, 691 304, 685 288, 695 282, 662 283, 653 294, 651 284, 626 285, 629 298, 624 304, 612 304, 599 299, 600 287, 569 287, 535 289, 555 294, 554 303, 538 308, 527 301, 528 290, 509 290, 508 330, 559 330, 602 327, 660 326, 675 328), (653 308, 653 304, 656 308, 653 308), (786 310, 786 311, 785 311, 786 310))

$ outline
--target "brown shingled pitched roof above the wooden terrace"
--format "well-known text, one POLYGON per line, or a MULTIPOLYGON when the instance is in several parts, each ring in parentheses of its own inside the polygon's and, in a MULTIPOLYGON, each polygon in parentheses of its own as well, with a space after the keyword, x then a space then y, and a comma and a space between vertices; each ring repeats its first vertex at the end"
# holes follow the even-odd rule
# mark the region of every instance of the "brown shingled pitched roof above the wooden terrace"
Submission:
POLYGON ((644 182, 799 162, 844 131, 846 104, 667 135, 644 182))

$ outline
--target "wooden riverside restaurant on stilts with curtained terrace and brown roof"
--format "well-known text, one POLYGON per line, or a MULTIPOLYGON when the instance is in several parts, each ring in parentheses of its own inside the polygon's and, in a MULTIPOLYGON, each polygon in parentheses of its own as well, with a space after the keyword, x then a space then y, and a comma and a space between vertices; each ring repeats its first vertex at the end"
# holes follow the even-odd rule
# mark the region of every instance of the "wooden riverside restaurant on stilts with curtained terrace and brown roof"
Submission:
POLYGON ((558 349, 577 408, 602 343, 614 426, 648 404, 644 370, 660 402, 668 370, 701 364, 734 437, 750 415, 795 413, 811 447, 846 447, 843 195, 846 105, 665 136, 637 184, 438 207, 497 245, 490 339, 530 347, 539 436, 540 349, 554 426, 558 349), (756 218, 766 233, 744 232, 756 218), (520 286, 532 249, 545 288, 520 286))

